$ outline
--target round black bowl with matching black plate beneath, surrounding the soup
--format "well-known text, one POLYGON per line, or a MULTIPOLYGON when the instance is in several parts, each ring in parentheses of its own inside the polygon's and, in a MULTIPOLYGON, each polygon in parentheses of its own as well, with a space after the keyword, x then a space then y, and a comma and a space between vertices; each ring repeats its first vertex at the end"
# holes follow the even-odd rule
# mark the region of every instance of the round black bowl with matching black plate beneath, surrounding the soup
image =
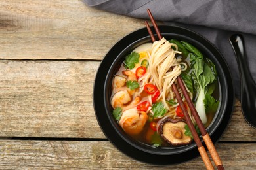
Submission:
MULTIPOLYGON (((161 34, 165 39, 179 39, 190 42, 198 48, 203 56, 215 63, 219 75, 221 105, 215 118, 207 127, 213 143, 216 143, 226 129, 234 105, 234 88, 228 65, 223 56, 207 39, 198 33, 171 25, 160 25, 161 34)), ((153 30, 153 28, 152 28, 153 30)), ((112 78, 119 69, 125 56, 140 44, 151 42, 146 28, 139 29, 123 37, 106 54, 98 69, 93 92, 95 114, 102 131, 108 140, 121 152, 146 163, 166 165, 181 163, 199 156, 196 143, 175 148, 155 148, 139 143, 127 135, 112 116, 110 95, 112 78)), ((202 141, 203 143, 203 141, 202 141)), ((204 144, 204 143, 203 143, 204 144)), ((206 148, 206 147, 205 147, 206 148)))

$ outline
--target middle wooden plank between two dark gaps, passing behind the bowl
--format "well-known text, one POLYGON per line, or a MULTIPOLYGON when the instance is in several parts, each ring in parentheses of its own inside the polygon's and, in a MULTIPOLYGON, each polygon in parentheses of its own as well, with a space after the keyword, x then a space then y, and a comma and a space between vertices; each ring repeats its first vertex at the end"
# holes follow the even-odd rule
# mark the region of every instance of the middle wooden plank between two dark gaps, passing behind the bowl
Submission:
MULTIPOLYGON (((98 61, 0 61, 0 136, 101 138, 93 109, 98 61)), ((237 100, 223 141, 256 141, 237 100)))

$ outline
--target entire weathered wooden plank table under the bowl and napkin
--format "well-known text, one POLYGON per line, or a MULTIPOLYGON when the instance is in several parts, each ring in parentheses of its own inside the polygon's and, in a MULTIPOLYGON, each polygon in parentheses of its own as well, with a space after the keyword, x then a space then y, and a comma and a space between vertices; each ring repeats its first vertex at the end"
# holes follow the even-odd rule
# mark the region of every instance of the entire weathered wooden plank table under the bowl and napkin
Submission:
MULTIPOLYGON (((0 1, 0 169, 204 169, 156 166, 119 152, 93 109, 100 60, 144 21, 83 1, 0 1)), ((256 130, 236 99, 216 148, 226 169, 256 169, 256 130)))

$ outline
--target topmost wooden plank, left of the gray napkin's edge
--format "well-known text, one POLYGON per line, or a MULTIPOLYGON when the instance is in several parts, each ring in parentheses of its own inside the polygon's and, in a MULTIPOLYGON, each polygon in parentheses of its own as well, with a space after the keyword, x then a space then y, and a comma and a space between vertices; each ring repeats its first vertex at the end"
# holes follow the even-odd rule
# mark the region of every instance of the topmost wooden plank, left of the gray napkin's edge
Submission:
POLYGON ((89 8, 79 0, 0 1, 0 58, 100 60, 140 27, 142 20, 89 8))

